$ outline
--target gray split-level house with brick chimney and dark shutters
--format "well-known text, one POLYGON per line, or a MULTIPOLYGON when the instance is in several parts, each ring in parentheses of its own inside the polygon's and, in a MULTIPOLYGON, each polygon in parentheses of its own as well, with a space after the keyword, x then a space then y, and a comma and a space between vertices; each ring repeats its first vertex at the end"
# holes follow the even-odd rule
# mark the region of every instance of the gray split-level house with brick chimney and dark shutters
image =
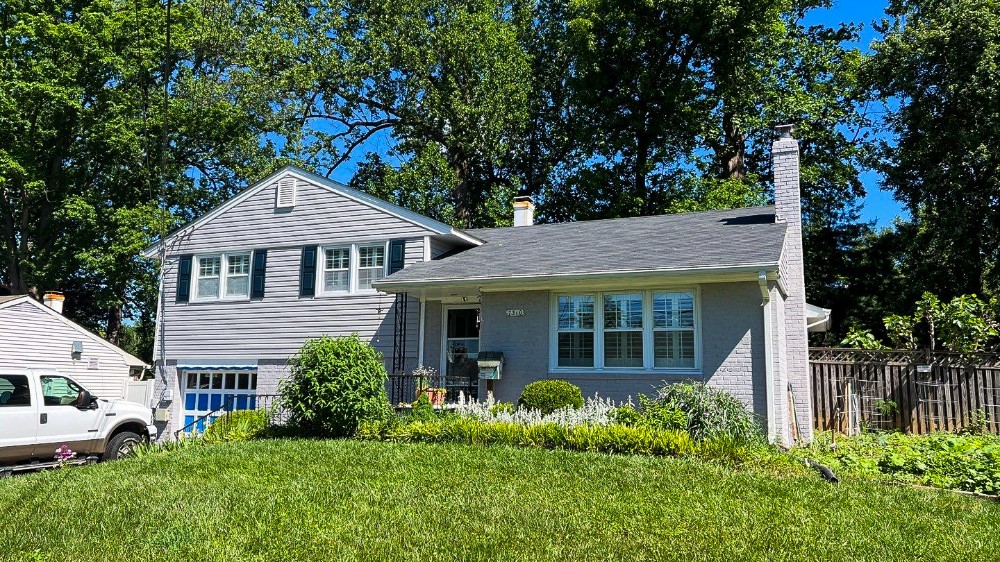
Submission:
MULTIPOLYGON (((662 381, 734 393, 789 442, 811 438, 798 144, 773 145, 775 205, 461 231, 287 167, 164 240, 161 435, 226 395, 252 407, 320 335, 358 333, 391 372, 514 400, 562 378, 624 400, 662 381), (503 354, 498 380, 477 359, 503 354)), ((147 255, 160 255, 161 248, 147 255)))

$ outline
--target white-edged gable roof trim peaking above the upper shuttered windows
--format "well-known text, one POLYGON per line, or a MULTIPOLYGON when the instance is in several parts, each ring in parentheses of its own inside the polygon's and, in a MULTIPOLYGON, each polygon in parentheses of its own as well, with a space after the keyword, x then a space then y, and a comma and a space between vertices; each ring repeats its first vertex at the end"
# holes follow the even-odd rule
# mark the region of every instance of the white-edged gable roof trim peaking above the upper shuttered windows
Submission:
MULTIPOLYGON (((336 193, 338 195, 341 195, 358 203, 362 203, 364 205, 368 205, 370 207, 383 211, 400 220, 404 220, 411 224, 425 228, 433 232, 434 234, 450 237, 457 242, 464 242, 472 245, 482 244, 483 242, 482 240, 468 234, 467 232, 453 228, 452 226, 447 225, 441 221, 437 221, 430 217, 426 217, 424 215, 421 215, 420 213, 415 213, 413 211, 410 211, 409 209, 400 207, 399 205, 394 205, 392 203, 389 203, 388 201, 383 201, 382 199, 379 199, 374 195, 365 193, 363 191, 358 191, 356 189, 352 189, 340 182, 333 181, 329 178, 325 178, 323 176, 314 174, 312 172, 307 172, 302 168, 292 165, 287 165, 282 167, 280 170, 252 184, 250 187, 247 187, 235 197, 232 197, 231 199, 225 201, 224 203, 215 207, 211 211, 205 213, 201 217, 171 232, 170 234, 167 235, 166 240, 170 240, 182 233, 197 229, 199 226, 208 223, 215 217, 221 215, 222 213, 225 213, 226 211, 235 207, 236 205, 239 205, 241 202, 249 199, 250 197, 254 196, 260 191, 267 189, 268 187, 273 185, 278 178, 285 175, 291 175, 297 177, 300 180, 312 183, 323 189, 326 189, 328 191, 331 191, 333 193, 336 193)), ((150 247, 143 250, 142 255, 147 258, 154 257, 159 248, 160 248, 160 242, 157 241, 150 247)))

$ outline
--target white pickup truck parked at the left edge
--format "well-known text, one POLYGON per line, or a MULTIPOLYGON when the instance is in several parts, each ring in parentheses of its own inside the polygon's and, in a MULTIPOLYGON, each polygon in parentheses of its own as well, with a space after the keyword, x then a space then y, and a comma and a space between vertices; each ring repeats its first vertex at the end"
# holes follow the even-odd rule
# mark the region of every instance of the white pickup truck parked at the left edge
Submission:
POLYGON ((117 459, 155 437, 142 404, 100 400, 54 371, 0 370, 0 471, 52 462, 62 445, 79 458, 117 459))

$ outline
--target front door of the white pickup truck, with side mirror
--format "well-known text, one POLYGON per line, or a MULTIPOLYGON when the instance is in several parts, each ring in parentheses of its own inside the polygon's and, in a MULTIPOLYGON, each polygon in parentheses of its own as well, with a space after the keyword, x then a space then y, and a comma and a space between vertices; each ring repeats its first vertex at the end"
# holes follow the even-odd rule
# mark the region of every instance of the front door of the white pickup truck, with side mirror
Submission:
POLYGON ((104 409, 80 404, 83 387, 68 377, 41 375, 38 380, 42 387, 42 403, 35 457, 55 456, 56 449, 62 445, 81 454, 96 452, 94 447, 104 409))

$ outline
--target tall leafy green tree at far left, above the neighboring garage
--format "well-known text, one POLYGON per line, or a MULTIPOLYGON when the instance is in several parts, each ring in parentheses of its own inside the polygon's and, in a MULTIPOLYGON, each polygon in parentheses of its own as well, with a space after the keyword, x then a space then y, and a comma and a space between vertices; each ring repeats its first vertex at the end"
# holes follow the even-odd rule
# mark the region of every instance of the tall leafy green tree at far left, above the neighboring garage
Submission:
POLYGON ((171 15, 168 49, 157 1, 0 4, 0 286, 65 290, 111 341, 155 310, 138 251, 275 157, 228 3, 171 15))

